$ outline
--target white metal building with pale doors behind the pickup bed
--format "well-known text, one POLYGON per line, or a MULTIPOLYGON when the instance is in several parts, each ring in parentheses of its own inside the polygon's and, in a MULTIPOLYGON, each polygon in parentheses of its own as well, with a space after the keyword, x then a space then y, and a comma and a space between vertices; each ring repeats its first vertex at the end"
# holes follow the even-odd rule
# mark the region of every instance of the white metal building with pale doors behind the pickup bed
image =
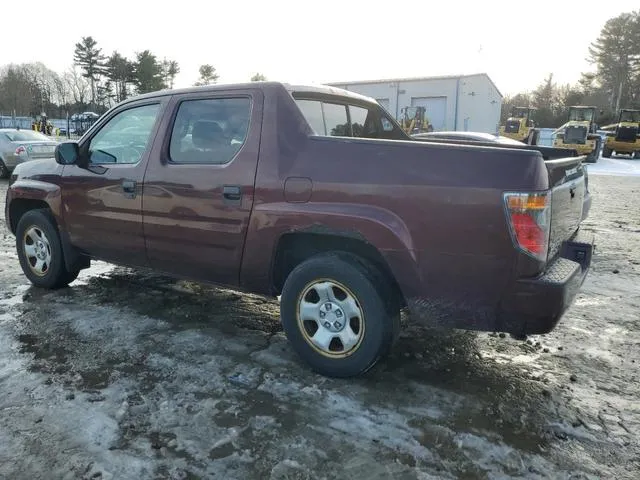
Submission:
POLYGON ((395 118, 424 106, 434 130, 497 133, 502 94, 486 73, 330 83, 375 98, 395 118))

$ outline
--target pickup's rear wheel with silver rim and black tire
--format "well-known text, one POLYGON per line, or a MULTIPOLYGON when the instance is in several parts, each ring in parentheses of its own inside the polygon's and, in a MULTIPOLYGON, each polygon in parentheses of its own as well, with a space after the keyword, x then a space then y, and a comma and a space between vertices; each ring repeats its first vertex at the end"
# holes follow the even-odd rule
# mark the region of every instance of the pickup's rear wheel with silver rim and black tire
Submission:
POLYGON ((400 331, 389 285, 378 270, 350 254, 325 253, 302 262, 289 274, 280 298, 293 349, 322 375, 367 372, 400 331))

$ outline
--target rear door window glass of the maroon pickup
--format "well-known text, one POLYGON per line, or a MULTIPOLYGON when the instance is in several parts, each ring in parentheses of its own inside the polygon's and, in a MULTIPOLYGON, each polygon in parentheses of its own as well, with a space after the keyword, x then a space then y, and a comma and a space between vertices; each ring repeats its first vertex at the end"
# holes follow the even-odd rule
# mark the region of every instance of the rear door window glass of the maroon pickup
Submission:
POLYGON ((215 98, 180 103, 169 156, 173 163, 224 165, 247 140, 251 99, 215 98))

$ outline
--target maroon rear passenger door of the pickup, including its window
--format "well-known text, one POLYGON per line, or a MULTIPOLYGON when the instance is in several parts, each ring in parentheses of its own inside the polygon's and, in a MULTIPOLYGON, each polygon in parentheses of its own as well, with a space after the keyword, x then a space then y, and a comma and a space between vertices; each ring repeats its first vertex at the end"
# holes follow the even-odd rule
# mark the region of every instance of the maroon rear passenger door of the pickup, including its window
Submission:
POLYGON ((151 267, 236 285, 260 147, 258 89, 175 95, 144 177, 151 267))

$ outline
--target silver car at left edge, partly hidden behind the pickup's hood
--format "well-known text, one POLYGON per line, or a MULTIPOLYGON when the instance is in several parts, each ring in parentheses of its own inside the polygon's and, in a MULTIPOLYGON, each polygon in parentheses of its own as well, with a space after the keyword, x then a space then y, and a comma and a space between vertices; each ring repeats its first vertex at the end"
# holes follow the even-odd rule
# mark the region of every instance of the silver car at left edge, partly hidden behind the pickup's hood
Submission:
POLYGON ((53 158, 58 142, 33 130, 0 128, 0 178, 17 165, 39 158, 53 158))

